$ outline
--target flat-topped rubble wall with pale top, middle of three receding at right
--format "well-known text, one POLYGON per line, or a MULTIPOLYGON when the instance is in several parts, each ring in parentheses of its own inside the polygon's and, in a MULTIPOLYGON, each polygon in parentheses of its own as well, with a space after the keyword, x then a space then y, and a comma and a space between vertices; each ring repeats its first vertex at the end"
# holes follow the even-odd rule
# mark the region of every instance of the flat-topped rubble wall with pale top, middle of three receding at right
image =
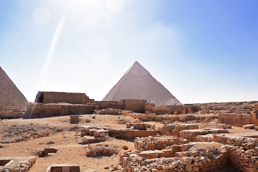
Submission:
POLYGON ((227 129, 219 129, 219 128, 190 129, 190 130, 182 130, 180 132, 180 137, 186 138, 189 142, 197 142, 196 137, 198 135, 227 133, 227 132, 228 132, 227 129))

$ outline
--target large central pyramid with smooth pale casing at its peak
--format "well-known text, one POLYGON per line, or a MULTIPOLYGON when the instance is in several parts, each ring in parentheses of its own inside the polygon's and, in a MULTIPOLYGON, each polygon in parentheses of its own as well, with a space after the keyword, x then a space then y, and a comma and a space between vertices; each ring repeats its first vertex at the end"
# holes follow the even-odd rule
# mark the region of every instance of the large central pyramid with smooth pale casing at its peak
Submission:
POLYGON ((123 99, 147 100, 147 103, 155 105, 182 104, 137 61, 125 72, 102 101, 123 99))

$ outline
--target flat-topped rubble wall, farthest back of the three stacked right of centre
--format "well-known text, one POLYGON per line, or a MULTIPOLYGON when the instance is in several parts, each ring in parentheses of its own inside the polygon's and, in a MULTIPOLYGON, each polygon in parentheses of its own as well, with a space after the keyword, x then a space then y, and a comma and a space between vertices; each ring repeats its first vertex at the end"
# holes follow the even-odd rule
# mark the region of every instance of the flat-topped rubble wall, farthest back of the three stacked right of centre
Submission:
POLYGON ((198 129, 197 124, 165 124, 160 130, 160 135, 180 137, 182 130, 198 129))

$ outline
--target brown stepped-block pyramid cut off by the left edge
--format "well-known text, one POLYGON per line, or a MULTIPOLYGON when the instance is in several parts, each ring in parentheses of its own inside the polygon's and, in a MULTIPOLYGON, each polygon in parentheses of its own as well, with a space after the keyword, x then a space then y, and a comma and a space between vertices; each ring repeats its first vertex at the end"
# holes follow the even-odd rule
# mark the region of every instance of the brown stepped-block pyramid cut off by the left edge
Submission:
POLYGON ((26 110, 29 102, 0 67, 0 109, 26 110))

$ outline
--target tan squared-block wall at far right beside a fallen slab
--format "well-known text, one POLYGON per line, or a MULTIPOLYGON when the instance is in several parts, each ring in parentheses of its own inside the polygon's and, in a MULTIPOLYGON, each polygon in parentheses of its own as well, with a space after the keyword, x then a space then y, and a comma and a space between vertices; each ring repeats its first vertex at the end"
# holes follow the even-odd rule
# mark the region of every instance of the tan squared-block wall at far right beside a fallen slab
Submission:
POLYGON ((256 114, 219 113, 218 123, 228 124, 236 127, 243 127, 243 125, 248 124, 256 124, 256 114))

